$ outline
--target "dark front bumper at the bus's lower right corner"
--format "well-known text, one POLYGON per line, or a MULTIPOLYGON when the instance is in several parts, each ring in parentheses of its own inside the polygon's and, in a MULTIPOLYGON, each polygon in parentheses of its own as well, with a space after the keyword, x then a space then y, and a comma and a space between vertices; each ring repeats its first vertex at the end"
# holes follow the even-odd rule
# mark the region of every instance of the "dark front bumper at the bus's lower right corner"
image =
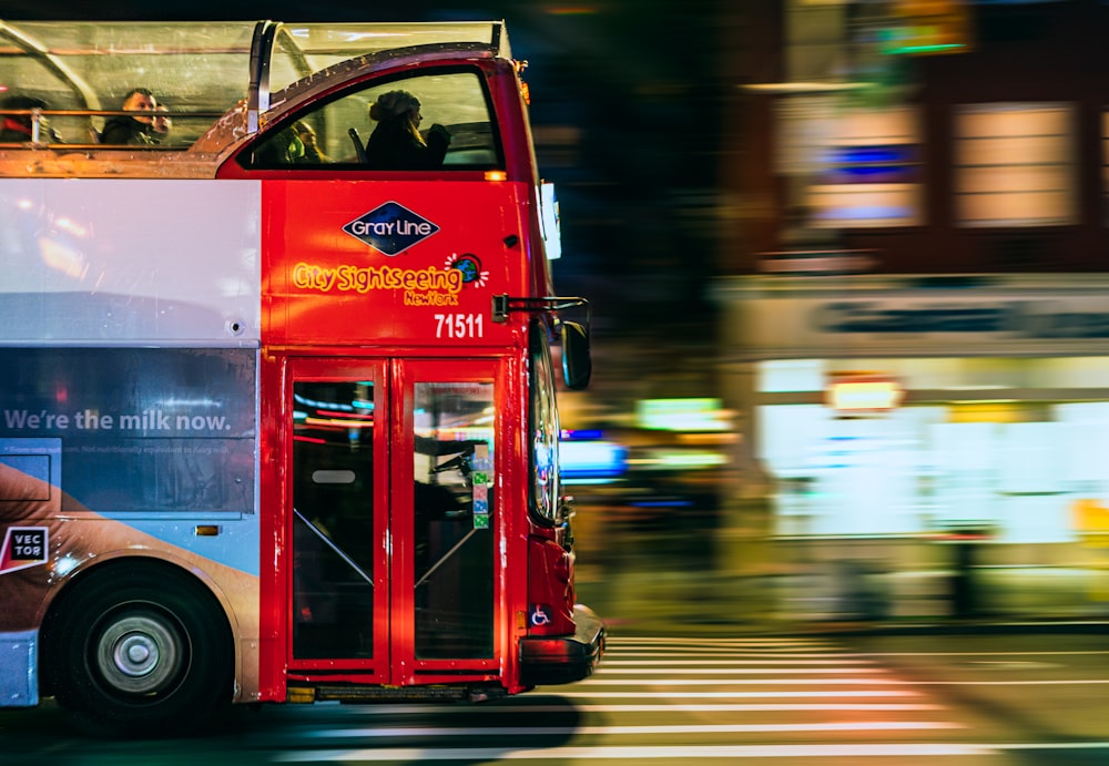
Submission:
POLYGON ((572 636, 520 641, 520 681, 525 686, 569 684, 593 673, 604 653, 604 622, 588 606, 576 604, 572 636))

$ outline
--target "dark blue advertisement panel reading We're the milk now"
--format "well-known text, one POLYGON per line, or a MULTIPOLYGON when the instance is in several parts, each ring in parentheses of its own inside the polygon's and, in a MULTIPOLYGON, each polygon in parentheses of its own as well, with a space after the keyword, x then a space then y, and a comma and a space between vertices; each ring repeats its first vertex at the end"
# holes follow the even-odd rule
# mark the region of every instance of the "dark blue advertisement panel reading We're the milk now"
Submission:
POLYGON ((0 443, 58 440, 62 491, 99 513, 253 512, 256 355, 0 349, 0 443))

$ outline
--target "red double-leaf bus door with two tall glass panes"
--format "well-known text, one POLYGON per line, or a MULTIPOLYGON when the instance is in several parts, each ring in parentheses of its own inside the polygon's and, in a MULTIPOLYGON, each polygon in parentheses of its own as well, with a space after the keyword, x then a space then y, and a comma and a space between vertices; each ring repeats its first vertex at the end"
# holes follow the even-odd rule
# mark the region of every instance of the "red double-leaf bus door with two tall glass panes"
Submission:
POLYGON ((409 685, 500 667, 497 367, 289 360, 294 674, 409 685))

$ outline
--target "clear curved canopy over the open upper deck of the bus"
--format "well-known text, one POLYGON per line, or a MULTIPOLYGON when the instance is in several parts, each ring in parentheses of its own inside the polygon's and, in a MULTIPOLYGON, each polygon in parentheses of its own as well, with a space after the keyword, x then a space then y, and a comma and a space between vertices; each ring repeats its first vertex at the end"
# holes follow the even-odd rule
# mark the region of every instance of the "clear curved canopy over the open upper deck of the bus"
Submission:
MULTIPOLYGON (((84 112, 52 116, 55 127, 72 129, 78 116, 88 125, 88 111, 119 110, 141 86, 167 105, 180 140, 195 140, 236 104, 256 116, 272 93, 340 62, 436 48, 511 58, 500 21, 0 21, 0 108, 19 94, 51 112, 84 112)), ((85 141, 60 132, 67 143, 85 141)))

